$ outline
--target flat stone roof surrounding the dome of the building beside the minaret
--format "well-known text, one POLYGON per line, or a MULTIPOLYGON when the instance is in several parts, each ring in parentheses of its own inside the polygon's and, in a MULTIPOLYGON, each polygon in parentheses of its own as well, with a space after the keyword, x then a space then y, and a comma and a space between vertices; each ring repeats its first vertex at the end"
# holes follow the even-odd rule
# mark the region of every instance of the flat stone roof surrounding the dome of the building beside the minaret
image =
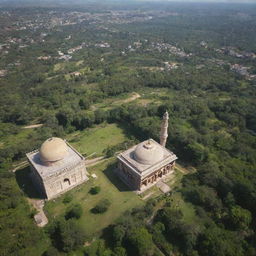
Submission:
POLYGON ((119 154, 117 156, 117 158, 122 161, 123 163, 125 163, 127 166, 129 166, 135 173, 137 173, 139 176, 147 176, 150 173, 154 172, 156 169, 161 168, 163 165, 168 164, 169 162, 175 161, 176 159, 178 159, 178 157, 171 152, 170 150, 168 150, 167 148, 161 146, 158 142, 156 142, 153 139, 150 139, 151 142, 157 144, 157 146, 161 147, 163 150, 163 159, 161 161, 158 161, 152 165, 147 165, 147 164, 141 164, 139 162, 137 162, 134 158, 133 158, 133 154, 134 154, 134 150, 136 149, 136 147, 140 144, 144 144, 146 143, 148 140, 143 141, 131 148, 129 148, 128 150, 122 152, 121 154, 119 154))

